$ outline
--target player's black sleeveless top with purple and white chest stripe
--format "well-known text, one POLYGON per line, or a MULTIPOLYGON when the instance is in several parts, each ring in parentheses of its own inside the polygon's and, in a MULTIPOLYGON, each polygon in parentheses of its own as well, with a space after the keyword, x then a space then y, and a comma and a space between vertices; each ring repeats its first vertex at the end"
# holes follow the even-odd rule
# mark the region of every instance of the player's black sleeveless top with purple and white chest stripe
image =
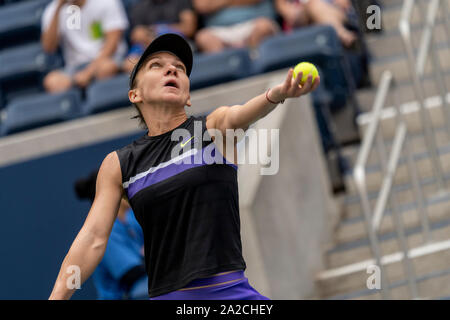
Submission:
POLYGON ((245 270, 237 167, 217 151, 206 116, 189 117, 158 136, 146 134, 117 153, 144 233, 150 297, 196 278, 245 270), (183 136, 172 137, 182 129, 183 136))

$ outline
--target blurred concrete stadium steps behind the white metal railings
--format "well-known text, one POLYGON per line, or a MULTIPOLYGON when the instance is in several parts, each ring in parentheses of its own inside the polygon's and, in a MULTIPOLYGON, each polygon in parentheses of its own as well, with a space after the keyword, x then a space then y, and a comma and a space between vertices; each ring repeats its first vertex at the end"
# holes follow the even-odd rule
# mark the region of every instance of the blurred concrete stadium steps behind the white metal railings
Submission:
MULTIPOLYGON (((450 1, 447 6, 450 7, 450 1)), ((424 29, 423 17, 430 1, 416 1, 411 15, 411 37, 417 47, 424 29)), ((397 170, 393 176, 390 197, 395 200, 396 210, 387 205, 379 229, 376 232, 378 246, 381 251, 381 264, 387 283, 382 290, 388 292, 389 299, 414 298, 408 285, 408 272, 405 261, 410 261, 415 273, 417 298, 449 299, 450 298, 450 130, 446 125, 444 104, 439 96, 431 64, 425 68, 422 79, 425 91, 426 109, 430 111, 433 126, 432 138, 438 147, 438 159, 442 166, 441 181, 444 188, 438 187, 438 178, 433 174, 430 145, 426 142, 423 123, 418 112, 415 87, 412 82, 408 60, 398 31, 403 1, 385 0, 382 9, 384 32, 368 36, 368 43, 374 61, 371 64, 371 75, 374 88, 358 92, 358 100, 367 114, 358 119, 362 136, 367 134, 367 127, 372 121, 370 114, 377 94, 377 87, 383 72, 390 70, 395 79, 395 86, 390 90, 385 108, 381 114, 379 131, 389 154, 396 129, 399 124, 395 110, 404 110, 406 141, 411 147, 412 158, 417 167, 418 180, 424 196, 424 212, 428 217, 431 240, 427 242, 423 232, 423 219, 420 215, 417 189, 414 189, 405 148, 399 157, 397 170), (395 99, 393 99, 395 97, 395 99), (390 108, 392 106, 392 108, 390 108), (400 106, 400 108, 396 108, 400 106), (404 248, 398 237, 394 214, 403 222, 408 259, 404 259, 404 248)), ((450 89, 450 40, 446 37, 443 10, 439 11, 434 30, 434 43, 440 57, 442 73, 445 76, 446 88, 450 89)), ((450 12, 446 12, 450 15, 450 12)), ((450 30, 447 30, 450 32, 450 30)), ((450 92, 448 100, 450 101, 450 92)), ((351 166, 355 166, 360 146, 350 146, 343 150, 351 166)), ((374 208, 383 178, 383 171, 376 149, 369 153, 366 167, 366 188, 373 217, 374 208)), ((358 193, 353 172, 345 179, 347 193, 343 199, 341 221, 334 234, 334 244, 324 253, 327 270, 316 276, 317 299, 381 299, 382 290, 369 289, 367 280, 371 273, 368 267, 376 264, 361 197, 358 193)), ((390 202, 388 202, 390 203, 390 202)))

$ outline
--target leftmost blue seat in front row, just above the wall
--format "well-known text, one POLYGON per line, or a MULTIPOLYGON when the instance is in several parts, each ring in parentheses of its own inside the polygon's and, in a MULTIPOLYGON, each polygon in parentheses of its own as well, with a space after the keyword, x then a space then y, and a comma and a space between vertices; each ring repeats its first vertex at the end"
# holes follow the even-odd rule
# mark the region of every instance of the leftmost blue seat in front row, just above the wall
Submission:
POLYGON ((80 104, 81 92, 78 89, 14 99, 2 111, 0 134, 73 119, 80 115, 80 104))

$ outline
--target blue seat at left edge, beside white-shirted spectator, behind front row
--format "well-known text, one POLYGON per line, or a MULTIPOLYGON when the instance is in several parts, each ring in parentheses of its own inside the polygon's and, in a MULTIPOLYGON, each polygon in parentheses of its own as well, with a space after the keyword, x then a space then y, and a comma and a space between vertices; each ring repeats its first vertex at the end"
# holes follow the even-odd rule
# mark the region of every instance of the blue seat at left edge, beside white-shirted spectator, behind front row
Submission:
POLYGON ((4 99, 42 88, 42 78, 50 70, 62 66, 58 55, 47 55, 39 43, 27 44, 0 52, 0 88, 4 99), (16 94, 14 94, 16 93, 16 94))

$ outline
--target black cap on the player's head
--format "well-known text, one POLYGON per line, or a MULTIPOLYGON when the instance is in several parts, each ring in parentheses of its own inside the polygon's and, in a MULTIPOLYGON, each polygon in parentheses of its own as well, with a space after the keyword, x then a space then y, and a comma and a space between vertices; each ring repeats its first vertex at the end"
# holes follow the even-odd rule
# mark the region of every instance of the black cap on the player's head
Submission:
POLYGON ((142 63, 148 56, 156 52, 170 52, 176 55, 186 66, 187 76, 190 76, 193 61, 191 46, 182 36, 175 33, 165 33, 153 40, 139 58, 130 75, 130 88, 142 63))

